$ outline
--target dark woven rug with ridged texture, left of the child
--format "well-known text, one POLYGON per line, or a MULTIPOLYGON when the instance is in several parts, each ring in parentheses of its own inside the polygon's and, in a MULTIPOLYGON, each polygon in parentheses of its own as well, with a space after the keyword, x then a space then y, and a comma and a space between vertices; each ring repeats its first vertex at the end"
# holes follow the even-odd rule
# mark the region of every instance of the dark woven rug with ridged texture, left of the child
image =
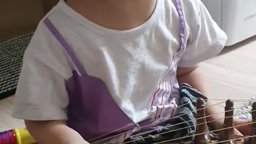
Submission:
POLYGON ((0 42, 0 100, 15 94, 22 59, 33 34, 0 42))

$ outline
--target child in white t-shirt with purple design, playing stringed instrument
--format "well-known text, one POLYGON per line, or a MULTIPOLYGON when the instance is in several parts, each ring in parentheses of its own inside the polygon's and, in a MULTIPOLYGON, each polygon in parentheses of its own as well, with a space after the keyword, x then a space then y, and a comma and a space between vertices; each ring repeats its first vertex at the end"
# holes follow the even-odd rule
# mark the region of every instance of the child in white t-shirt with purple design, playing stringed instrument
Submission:
POLYGON ((38 143, 122 142, 174 115, 179 84, 207 95, 196 65, 226 40, 199 0, 61 0, 25 53, 13 115, 38 143))

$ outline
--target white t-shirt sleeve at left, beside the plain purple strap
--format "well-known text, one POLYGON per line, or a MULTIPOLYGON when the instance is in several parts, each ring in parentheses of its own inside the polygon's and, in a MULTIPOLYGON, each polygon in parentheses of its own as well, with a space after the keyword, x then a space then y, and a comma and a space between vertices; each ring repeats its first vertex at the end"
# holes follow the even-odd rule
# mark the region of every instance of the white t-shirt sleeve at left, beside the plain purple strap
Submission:
POLYGON ((59 73, 65 70, 62 65, 67 61, 60 61, 63 53, 53 40, 43 25, 31 39, 15 93, 15 118, 34 121, 67 119, 68 94, 65 77, 59 73))

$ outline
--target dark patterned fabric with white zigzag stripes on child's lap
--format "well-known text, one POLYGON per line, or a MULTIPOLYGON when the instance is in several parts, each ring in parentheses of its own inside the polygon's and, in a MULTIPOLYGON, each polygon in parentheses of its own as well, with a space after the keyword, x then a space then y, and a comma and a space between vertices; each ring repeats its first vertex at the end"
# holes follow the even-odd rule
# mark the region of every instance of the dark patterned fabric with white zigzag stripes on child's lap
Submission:
MULTIPOLYGON (((164 129, 160 131, 155 131, 150 134, 141 135, 139 137, 131 137, 128 138, 125 142, 134 144, 156 143, 172 139, 178 139, 178 142, 193 142, 193 135, 196 132, 196 101, 198 98, 202 98, 205 100, 207 99, 200 92, 193 89, 188 84, 182 84, 180 87, 181 107, 178 108, 178 115, 170 119, 170 121, 168 121, 167 123, 165 123, 163 125, 165 127, 164 129), (181 137, 186 137, 189 135, 191 135, 191 137, 188 137, 186 139, 179 139, 181 137)), ((218 139, 218 135, 215 135, 214 133, 210 133, 210 135, 213 139, 218 139)))

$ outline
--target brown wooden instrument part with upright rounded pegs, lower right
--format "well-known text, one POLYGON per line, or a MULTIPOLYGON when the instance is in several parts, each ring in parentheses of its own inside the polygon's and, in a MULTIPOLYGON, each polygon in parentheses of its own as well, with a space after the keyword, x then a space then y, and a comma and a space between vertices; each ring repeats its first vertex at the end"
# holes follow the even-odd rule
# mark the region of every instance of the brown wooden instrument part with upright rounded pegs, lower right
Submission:
POLYGON ((223 124, 223 129, 220 131, 219 140, 211 140, 209 136, 209 129, 207 127, 207 122, 205 118, 206 104, 203 99, 197 100, 197 126, 195 133, 195 141, 184 141, 184 142, 174 142, 172 140, 161 142, 163 144, 211 144, 211 143, 221 143, 221 144, 256 144, 256 102, 252 106, 252 131, 249 138, 246 137, 235 137, 233 116, 234 116, 234 102, 231 100, 226 101, 225 107, 225 121, 223 124))

